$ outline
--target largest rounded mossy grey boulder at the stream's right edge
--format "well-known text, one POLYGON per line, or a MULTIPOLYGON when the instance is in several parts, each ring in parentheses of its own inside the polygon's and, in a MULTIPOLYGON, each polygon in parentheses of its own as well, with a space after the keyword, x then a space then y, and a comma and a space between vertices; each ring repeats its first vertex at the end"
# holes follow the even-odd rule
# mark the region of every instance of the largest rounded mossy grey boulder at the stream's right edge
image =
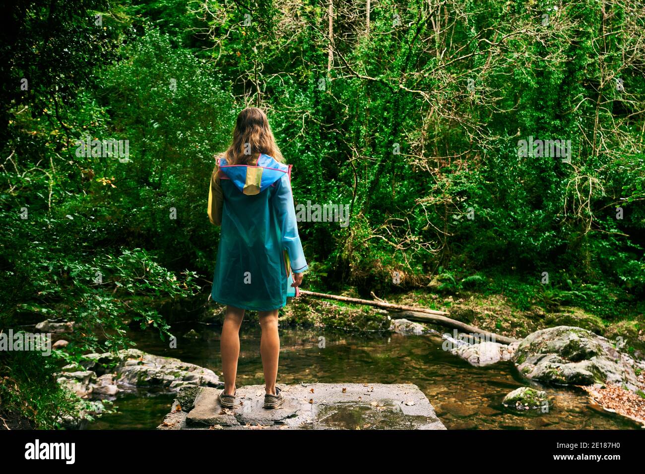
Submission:
POLYGON ((608 339, 572 326, 531 333, 519 344, 513 362, 527 379, 548 384, 615 382, 630 390, 638 385, 635 369, 639 363, 608 339))

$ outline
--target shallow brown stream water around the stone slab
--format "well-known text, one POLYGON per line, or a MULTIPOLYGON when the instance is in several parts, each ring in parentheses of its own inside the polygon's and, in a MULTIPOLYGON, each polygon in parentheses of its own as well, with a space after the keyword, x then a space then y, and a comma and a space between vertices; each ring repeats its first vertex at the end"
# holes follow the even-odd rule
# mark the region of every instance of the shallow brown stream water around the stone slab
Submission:
MULTIPOLYGON (((221 326, 177 324, 177 348, 152 331, 131 334, 137 348, 177 357, 209 368, 221 378, 221 326), (183 337, 189 330, 200 339, 183 337)), ((244 322, 237 386, 263 384, 257 322, 244 322)), ((282 328, 278 382, 412 383, 426 394, 448 430, 455 429, 632 429, 635 425, 599 411, 585 393, 575 389, 546 390, 553 400, 549 413, 513 413, 501 402, 506 393, 526 383, 511 362, 477 368, 442 350, 435 336, 348 333, 340 330, 282 328), (323 339, 324 338, 324 339, 323 339)), ((172 395, 117 399, 119 413, 105 415, 89 429, 152 429, 170 411, 172 395)))

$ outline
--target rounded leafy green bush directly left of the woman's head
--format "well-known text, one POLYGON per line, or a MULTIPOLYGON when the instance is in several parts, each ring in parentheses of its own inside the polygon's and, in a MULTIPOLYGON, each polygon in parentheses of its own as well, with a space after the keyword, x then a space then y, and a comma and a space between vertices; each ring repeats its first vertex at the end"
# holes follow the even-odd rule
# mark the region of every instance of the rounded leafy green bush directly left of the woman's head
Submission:
POLYGON ((106 71, 102 99, 111 126, 129 140, 131 162, 94 160, 95 175, 115 187, 97 186, 92 204, 126 222, 128 235, 164 264, 190 262, 208 273, 217 244, 208 183, 213 155, 228 146, 232 98, 204 60, 154 29, 123 54, 130 59, 106 71))

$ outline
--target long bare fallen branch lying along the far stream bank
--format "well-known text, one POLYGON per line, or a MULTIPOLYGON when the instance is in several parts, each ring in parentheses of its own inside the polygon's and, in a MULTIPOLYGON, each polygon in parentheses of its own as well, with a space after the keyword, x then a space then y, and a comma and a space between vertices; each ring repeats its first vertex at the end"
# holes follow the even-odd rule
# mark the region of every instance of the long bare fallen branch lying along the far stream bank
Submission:
POLYGON ((499 334, 484 331, 470 324, 466 324, 455 319, 447 317, 446 311, 428 310, 426 308, 415 308, 414 306, 406 306, 404 304, 392 304, 381 301, 372 301, 368 299, 350 298, 348 296, 328 295, 327 293, 316 293, 315 291, 301 290, 300 294, 303 296, 311 296, 315 298, 333 299, 336 301, 346 301, 356 304, 367 304, 375 308, 383 308, 388 311, 399 311, 394 313, 392 319, 409 319, 410 321, 432 322, 440 326, 448 328, 455 328, 466 333, 482 334, 490 341, 500 342, 501 344, 511 344, 511 342, 518 342, 518 339, 511 337, 501 336, 499 334))

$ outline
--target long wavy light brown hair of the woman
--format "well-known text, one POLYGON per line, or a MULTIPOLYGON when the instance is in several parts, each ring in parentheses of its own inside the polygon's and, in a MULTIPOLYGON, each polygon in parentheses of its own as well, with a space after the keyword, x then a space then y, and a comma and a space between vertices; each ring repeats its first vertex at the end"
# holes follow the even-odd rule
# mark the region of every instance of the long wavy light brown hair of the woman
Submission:
POLYGON ((247 107, 237 115, 233 142, 224 152, 224 157, 228 164, 248 164, 258 153, 269 155, 280 163, 284 161, 264 111, 247 107))

